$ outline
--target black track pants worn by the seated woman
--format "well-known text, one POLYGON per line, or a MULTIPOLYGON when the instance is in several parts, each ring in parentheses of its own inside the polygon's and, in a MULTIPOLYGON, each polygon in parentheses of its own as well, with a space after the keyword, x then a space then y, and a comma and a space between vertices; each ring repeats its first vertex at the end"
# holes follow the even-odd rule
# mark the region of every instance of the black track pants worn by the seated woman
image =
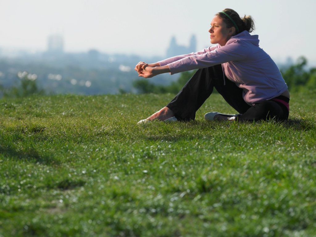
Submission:
MULTIPOLYGON (((226 102, 241 114, 237 118, 238 121, 259 121, 270 118, 282 121, 289 117, 289 110, 280 102, 265 100, 253 106, 247 104, 242 97, 241 88, 226 76, 224 83, 221 64, 197 70, 167 107, 174 112, 179 121, 194 120, 195 112, 212 94, 214 87, 226 102)), ((277 98, 289 103, 289 98, 284 96, 277 98)))

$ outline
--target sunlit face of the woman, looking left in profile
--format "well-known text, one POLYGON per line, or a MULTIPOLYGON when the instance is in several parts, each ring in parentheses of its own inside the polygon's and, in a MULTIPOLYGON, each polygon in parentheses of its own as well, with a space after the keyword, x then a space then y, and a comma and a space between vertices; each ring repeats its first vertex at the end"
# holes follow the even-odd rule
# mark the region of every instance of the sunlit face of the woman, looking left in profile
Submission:
POLYGON ((209 29, 211 44, 224 46, 235 32, 235 28, 227 28, 226 23, 218 15, 213 17, 211 28, 209 29))

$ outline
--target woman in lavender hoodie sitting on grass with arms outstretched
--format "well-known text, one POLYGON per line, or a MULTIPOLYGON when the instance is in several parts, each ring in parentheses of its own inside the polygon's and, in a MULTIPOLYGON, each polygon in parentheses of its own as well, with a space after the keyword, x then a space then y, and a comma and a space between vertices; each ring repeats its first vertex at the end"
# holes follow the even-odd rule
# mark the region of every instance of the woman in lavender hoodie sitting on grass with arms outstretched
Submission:
POLYGON ((190 121, 215 87, 239 114, 205 114, 206 120, 259 121, 289 117, 288 87, 270 56, 259 48, 251 16, 242 19, 232 9, 217 13, 209 29, 210 42, 202 51, 171 57, 156 63, 139 62, 138 76, 175 74, 198 69, 173 100, 138 123, 190 121))

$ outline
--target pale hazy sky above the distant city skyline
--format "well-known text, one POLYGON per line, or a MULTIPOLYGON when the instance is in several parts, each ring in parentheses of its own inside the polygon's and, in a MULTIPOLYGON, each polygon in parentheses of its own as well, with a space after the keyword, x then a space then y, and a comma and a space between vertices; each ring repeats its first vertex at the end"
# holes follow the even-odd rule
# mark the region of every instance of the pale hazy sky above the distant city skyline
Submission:
POLYGON ((216 12, 252 15, 260 47, 276 60, 304 55, 316 65, 315 0, 0 0, 0 47, 45 50, 64 36, 64 50, 164 56, 170 38, 210 45, 216 12))

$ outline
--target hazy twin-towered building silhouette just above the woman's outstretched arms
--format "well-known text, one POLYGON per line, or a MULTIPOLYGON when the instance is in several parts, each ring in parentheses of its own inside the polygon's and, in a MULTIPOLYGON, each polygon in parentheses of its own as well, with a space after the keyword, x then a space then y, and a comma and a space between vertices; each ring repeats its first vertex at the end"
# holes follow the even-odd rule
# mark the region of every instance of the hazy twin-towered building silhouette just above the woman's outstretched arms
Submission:
POLYGON ((177 44, 176 38, 173 36, 170 40, 169 47, 167 49, 166 56, 173 57, 182 54, 188 54, 196 51, 196 37, 195 35, 191 36, 189 46, 179 45, 177 44))

